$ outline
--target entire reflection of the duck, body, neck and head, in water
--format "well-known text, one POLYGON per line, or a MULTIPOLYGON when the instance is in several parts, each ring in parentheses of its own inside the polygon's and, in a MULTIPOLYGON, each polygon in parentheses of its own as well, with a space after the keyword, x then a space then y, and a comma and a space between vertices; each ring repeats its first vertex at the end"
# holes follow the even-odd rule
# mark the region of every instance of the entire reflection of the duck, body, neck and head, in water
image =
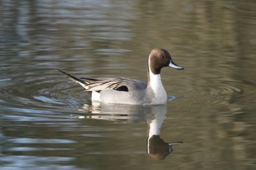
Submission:
POLYGON ((148 122, 147 153, 156 160, 163 160, 172 153, 173 145, 182 142, 166 143, 160 138, 161 125, 166 118, 166 105, 158 106, 129 106, 100 104, 92 106, 84 104, 84 110, 92 111, 85 118, 111 121, 148 122))

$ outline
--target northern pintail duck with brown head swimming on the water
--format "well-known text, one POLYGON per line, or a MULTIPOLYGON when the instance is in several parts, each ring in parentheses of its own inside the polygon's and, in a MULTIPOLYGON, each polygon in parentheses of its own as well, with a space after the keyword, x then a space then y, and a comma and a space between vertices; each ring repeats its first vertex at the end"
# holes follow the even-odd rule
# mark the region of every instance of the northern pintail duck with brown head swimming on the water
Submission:
POLYGON ((112 104, 157 105, 166 104, 167 95, 161 81, 161 69, 175 64, 169 52, 162 48, 152 50, 147 61, 148 83, 129 78, 76 78, 64 71, 87 92, 92 92, 92 101, 112 104))

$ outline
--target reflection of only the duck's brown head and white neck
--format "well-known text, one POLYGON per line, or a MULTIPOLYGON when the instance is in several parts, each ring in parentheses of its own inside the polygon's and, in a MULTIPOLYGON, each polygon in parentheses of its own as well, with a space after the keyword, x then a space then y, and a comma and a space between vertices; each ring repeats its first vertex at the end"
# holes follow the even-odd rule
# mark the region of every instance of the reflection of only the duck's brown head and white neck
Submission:
POLYGON ((166 105, 155 106, 152 111, 155 118, 148 123, 147 152, 153 159, 163 160, 173 151, 173 145, 182 142, 166 143, 160 138, 161 125, 166 118, 166 105))

